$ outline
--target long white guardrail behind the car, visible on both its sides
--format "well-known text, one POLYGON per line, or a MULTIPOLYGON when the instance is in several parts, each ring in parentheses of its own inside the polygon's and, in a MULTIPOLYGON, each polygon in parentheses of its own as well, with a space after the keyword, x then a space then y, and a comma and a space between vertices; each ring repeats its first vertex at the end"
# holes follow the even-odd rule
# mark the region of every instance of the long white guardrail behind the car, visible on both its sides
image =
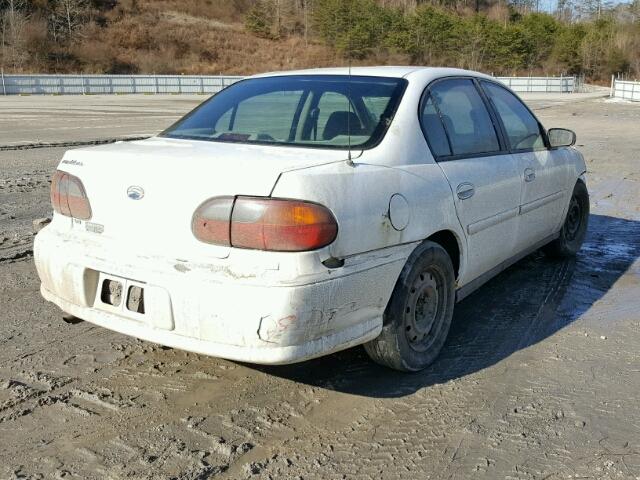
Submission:
MULTIPOLYGON (((239 76, 199 75, 4 75, 4 95, 212 94, 239 76)), ((572 93, 577 77, 496 77, 516 92, 572 93)))

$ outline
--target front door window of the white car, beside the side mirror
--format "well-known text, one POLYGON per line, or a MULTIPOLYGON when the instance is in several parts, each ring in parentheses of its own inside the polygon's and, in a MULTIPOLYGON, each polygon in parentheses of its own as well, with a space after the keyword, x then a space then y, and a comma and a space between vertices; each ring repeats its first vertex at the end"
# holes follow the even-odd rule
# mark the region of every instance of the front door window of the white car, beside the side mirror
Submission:
POLYGON ((545 148, 540 124, 518 97, 491 82, 482 82, 482 87, 502 120, 512 149, 545 148))

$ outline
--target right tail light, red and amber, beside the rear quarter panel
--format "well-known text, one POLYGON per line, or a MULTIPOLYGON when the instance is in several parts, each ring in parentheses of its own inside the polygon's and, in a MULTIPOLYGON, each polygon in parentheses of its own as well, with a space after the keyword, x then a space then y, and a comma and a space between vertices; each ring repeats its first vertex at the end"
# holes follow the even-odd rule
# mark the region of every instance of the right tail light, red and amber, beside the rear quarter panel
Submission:
POLYGON ((302 252, 329 245, 338 224, 322 205, 263 197, 217 197, 193 215, 193 233, 214 245, 302 252))

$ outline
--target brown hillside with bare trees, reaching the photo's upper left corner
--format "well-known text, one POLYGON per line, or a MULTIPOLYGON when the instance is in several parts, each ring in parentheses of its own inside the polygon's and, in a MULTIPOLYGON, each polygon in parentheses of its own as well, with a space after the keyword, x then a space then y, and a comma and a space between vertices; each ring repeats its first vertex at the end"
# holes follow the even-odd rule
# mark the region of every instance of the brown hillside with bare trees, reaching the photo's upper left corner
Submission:
POLYGON ((247 74, 337 61, 332 49, 298 36, 269 40, 248 33, 241 2, 77 2, 82 8, 72 11, 71 28, 64 9, 62 25, 52 26, 48 4, 41 3, 16 2, 22 8, 14 18, 23 25, 20 38, 2 49, 5 71, 247 74))

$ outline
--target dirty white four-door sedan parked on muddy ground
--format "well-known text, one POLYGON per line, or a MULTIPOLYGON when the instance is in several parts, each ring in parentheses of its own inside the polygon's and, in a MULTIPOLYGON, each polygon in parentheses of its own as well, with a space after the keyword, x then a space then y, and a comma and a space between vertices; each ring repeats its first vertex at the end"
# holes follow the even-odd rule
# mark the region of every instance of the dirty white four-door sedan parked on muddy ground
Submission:
POLYGON ((156 137, 64 155, 35 240, 41 292, 207 355, 281 364, 364 344, 420 370, 456 301, 535 249, 580 249, 574 143, 476 72, 251 77, 156 137))

